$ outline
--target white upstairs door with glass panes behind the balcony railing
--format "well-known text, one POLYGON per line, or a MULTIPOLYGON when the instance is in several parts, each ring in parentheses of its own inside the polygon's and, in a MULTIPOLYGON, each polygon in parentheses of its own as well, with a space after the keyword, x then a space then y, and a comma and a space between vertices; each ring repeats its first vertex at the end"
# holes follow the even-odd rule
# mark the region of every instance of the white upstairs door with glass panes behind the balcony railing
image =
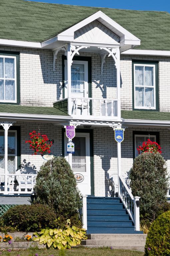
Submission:
MULTIPOLYGON (((67 92, 67 60, 65 60, 65 98, 67 92)), ((73 60, 71 65, 71 97, 88 98, 88 61, 73 60)))

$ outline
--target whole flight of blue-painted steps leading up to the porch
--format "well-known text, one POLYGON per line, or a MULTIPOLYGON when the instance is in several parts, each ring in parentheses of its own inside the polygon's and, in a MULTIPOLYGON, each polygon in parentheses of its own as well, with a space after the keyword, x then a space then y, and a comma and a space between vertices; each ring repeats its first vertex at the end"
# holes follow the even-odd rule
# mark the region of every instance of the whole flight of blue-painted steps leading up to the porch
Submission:
POLYGON ((87 234, 141 234, 119 197, 87 197, 87 234))

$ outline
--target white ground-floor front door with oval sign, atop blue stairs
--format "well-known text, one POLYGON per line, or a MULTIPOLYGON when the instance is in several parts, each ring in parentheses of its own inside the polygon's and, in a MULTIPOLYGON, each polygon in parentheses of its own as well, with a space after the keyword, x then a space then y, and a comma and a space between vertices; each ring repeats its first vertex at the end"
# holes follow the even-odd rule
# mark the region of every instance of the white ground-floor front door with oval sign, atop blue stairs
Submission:
MULTIPOLYGON (((67 141, 65 136, 65 156, 68 160, 67 141)), ((72 170, 77 180, 77 186, 82 195, 91 195, 90 135, 77 132, 72 141, 75 148, 75 152, 72 154, 72 170)))

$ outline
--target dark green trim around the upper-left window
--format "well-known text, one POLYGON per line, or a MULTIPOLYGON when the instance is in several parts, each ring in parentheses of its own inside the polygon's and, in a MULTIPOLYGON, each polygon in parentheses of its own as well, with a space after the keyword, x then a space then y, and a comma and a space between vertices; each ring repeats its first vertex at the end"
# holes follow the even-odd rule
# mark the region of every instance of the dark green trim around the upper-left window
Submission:
POLYGON ((16 79, 17 79, 17 102, 0 102, 0 104, 8 104, 8 105, 19 105, 20 104, 20 76, 19 76, 19 52, 10 52, 10 51, 0 51, 0 55, 6 55, 6 56, 15 56, 16 57, 16 79))

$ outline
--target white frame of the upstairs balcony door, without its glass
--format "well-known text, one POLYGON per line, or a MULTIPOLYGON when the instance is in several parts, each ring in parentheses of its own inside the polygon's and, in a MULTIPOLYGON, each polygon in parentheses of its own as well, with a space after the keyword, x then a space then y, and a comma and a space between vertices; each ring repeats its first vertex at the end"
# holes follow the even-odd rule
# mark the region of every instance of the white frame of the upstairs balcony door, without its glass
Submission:
MULTIPOLYGON (((84 97, 82 93, 72 92, 71 97, 88 98, 88 61, 84 60, 73 60, 72 64, 84 65, 84 97)), ((65 77, 65 98, 68 97, 68 86, 67 86, 67 60, 64 61, 64 77, 65 77)))

